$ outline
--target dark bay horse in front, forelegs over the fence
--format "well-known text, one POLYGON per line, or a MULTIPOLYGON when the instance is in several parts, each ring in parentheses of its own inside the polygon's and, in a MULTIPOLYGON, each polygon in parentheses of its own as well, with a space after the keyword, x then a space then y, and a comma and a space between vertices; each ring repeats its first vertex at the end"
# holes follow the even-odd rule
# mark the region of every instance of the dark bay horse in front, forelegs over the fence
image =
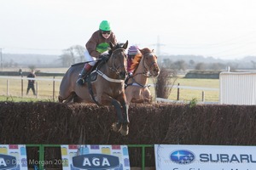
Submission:
POLYGON ((97 105, 113 105, 118 121, 112 125, 113 131, 120 132, 122 135, 129 133, 128 107, 125 97, 125 77, 127 75, 127 55, 125 44, 110 45, 108 61, 96 63, 96 70, 86 77, 85 84, 81 87, 76 81, 83 65, 71 66, 60 85, 59 102, 70 102, 72 99, 84 103, 96 103, 97 105), (93 74, 94 73, 94 74, 93 74), (92 80, 92 76, 96 80, 92 80), (91 79, 91 81, 90 81, 91 79), (124 115, 123 115, 124 114, 124 115))

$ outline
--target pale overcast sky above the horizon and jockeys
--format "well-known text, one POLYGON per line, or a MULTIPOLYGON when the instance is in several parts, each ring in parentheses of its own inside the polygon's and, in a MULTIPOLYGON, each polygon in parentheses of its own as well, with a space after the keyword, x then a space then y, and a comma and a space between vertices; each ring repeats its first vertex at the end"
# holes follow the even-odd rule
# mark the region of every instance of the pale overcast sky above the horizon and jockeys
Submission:
POLYGON ((61 54, 102 20, 119 42, 220 59, 256 56, 255 0, 0 0, 4 53, 61 54), (160 43, 160 48, 156 44, 160 43))

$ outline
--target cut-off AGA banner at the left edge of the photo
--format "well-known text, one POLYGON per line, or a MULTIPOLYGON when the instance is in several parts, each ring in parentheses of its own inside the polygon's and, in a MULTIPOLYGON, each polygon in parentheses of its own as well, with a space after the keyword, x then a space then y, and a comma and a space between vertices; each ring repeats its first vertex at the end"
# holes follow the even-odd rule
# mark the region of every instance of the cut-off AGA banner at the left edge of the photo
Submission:
POLYGON ((26 145, 0 144, 0 170, 27 170, 26 145))

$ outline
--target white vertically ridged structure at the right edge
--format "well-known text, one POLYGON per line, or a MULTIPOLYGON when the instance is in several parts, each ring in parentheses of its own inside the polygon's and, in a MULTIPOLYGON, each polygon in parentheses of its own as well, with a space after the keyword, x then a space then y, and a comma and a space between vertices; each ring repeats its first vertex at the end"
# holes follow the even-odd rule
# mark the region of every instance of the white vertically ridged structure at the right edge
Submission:
POLYGON ((219 103, 227 105, 256 105, 256 72, 219 74, 219 103))

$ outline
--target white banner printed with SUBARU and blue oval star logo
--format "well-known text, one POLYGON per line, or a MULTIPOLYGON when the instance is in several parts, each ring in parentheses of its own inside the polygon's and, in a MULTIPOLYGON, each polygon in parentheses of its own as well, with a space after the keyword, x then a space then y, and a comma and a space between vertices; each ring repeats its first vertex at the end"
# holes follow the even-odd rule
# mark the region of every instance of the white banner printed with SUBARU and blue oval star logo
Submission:
POLYGON ((154 144, 156 170, 255 170, 256 146, 154 144))

